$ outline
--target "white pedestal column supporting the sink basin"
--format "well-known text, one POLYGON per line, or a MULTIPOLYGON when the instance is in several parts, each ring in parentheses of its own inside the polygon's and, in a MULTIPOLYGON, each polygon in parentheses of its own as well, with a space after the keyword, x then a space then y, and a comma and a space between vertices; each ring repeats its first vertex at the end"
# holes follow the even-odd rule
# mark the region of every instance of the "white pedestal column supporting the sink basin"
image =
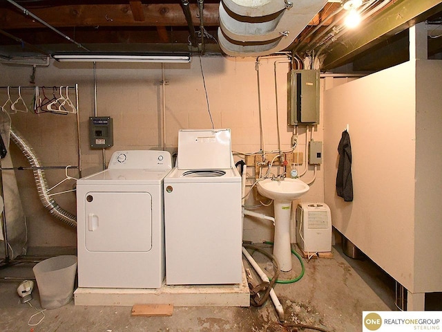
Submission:
POLYGON ((273 201, 275 210, 275 240, 273 243, 273 256, 278 259, 281 271, 291 270, 290 246, 290 216, 291 202, 282 203, 273 201))

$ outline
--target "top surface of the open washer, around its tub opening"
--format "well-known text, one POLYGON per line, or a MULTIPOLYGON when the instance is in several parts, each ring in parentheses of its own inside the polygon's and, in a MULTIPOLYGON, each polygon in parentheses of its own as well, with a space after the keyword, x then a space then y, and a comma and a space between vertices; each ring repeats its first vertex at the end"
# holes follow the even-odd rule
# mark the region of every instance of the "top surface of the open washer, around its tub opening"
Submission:
POLYGON ((172 171, 164 178, 164 183, 227 183, 241 182, 238 169, 178 169, 172 171))

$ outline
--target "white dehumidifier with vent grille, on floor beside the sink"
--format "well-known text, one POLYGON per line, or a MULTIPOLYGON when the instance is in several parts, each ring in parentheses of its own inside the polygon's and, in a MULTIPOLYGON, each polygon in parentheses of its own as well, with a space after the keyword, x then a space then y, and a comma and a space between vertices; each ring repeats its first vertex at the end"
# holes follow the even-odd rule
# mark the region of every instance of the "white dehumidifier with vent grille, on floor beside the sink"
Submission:
POLYGON ((327 204, 298 204, 296 241, 305 252, 332 251, 332 214, 327 204))

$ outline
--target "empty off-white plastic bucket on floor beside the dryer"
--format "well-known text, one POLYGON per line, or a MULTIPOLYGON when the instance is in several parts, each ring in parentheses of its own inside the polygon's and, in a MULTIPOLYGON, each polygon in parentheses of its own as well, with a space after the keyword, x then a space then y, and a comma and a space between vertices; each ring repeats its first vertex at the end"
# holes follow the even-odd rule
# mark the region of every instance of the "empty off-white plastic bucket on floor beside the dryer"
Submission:
POLYGON ((57 256, 32 268, 40 294, 41 308, 55 309, 73 298, 77 256, 57 256))

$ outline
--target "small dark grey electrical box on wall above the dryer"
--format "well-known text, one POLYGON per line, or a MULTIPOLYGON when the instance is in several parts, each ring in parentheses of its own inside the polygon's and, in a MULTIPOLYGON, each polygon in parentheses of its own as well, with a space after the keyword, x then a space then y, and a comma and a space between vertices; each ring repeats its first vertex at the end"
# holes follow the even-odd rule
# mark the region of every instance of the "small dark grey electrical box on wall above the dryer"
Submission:
POLYGON ((106 149, 113 146, 113 120, 109 116, 89 118, 89 140, 93 149, 106 149))

